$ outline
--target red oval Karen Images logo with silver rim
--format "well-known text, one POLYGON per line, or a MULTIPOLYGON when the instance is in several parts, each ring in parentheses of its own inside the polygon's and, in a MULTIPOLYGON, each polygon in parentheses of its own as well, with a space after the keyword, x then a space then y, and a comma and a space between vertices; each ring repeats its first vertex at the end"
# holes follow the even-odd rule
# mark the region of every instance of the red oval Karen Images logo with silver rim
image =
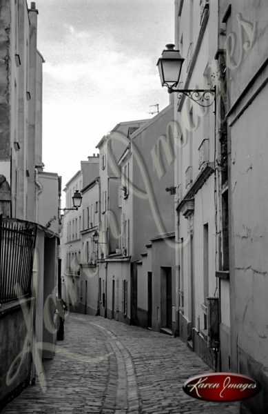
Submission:
POLYGON ((228 402, 254 397, 261 390, 259 382, 245 375, 208 373, 189 378, 183 391, 191 397, 205 401, 228 402))

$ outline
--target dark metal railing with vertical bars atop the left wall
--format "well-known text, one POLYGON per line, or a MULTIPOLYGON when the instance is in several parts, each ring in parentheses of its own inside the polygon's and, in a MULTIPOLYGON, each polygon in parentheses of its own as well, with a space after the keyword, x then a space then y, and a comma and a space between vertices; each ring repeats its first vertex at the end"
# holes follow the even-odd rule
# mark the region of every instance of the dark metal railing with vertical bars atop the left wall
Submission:
POLYGON ((37 225, 0 215, 0 304, 31 293, 37 225))

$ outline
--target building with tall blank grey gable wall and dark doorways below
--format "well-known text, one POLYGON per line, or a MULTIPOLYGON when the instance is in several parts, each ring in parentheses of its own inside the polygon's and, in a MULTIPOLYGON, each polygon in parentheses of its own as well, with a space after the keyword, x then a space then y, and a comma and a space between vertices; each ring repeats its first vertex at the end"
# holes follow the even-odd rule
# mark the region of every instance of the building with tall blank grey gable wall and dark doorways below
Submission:
POLYGON ((129 268, 116 272, 119 286, 128 286, 132 324, 168 333, 176 306, 174 200, 166 190, 174 186, 173 114, 170 105, 132 132, 118 161, 121 246, 130 257, 129 268))

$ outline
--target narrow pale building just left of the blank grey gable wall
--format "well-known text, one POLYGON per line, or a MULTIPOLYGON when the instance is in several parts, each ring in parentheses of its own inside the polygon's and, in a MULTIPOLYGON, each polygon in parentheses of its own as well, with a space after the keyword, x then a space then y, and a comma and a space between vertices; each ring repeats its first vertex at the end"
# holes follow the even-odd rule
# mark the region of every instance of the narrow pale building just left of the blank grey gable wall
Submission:
POLYGON ((121 224, 123 197, 118 160, 130 145, 130 137, 147 120, 117 124, 96 148, 100 152, 101 222, 99 230, 100 315, 130 323, 130 230, 121 224), (123 235, 123 238, 121 237, 123 235))

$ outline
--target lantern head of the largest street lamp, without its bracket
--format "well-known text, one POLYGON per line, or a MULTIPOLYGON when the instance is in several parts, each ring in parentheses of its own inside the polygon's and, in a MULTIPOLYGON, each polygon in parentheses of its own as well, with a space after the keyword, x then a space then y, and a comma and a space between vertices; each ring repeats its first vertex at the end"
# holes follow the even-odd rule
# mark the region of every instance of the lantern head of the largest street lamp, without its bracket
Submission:
POLYGON ((181 76, 184 59, 174 45, 167 45, 162 57, 158 59, 157 66, 162 86, 176 86, 181 76))

